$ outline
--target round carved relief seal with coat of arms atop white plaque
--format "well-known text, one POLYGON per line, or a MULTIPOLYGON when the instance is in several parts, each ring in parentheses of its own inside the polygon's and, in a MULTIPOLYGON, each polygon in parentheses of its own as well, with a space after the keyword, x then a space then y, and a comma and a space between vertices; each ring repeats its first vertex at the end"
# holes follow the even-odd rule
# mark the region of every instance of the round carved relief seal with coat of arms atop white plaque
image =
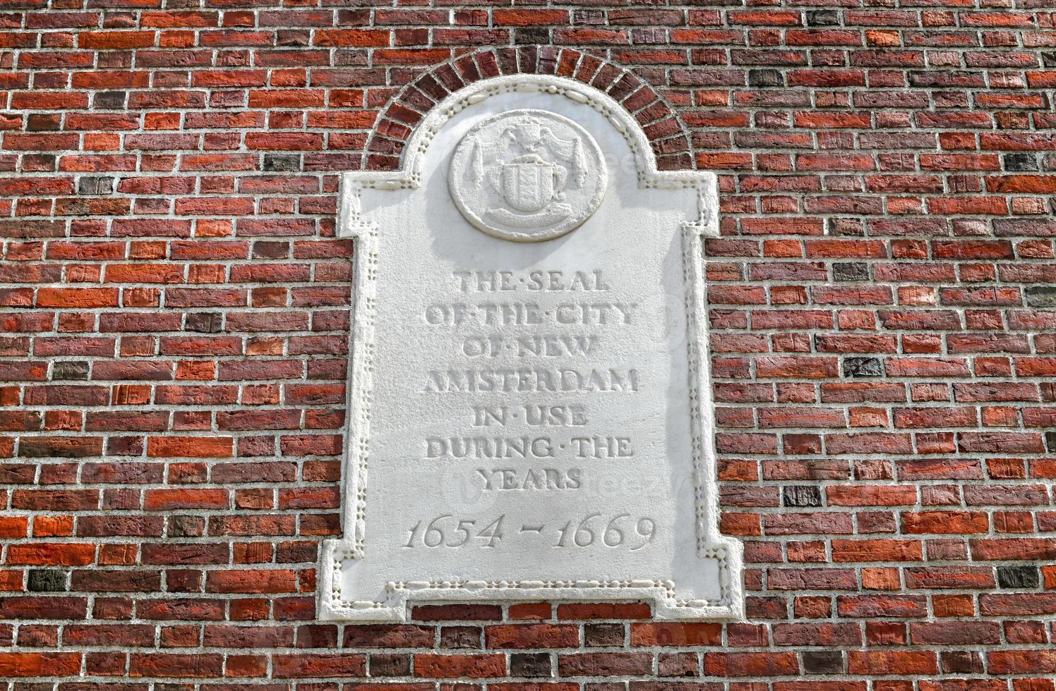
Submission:
POLYGON ((475 124, 455 147, 448 175, 466 220, 516 243, 578 228, 598 210, 607 181, 601 149, 586 130, 527 109, 475 124))

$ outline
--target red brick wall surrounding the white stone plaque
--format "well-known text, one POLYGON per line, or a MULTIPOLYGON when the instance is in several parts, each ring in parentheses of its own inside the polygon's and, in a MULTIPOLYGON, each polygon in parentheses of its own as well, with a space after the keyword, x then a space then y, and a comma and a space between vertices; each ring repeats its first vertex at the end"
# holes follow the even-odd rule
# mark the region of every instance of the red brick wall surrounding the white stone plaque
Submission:
POLYGON ((0 689, 1054 689, 1050 3, 162 4, 0 0, 0 689), (664 165, 720 174, 747 621, 313 620, 337 173, 492 60, 641 80, 664 165))

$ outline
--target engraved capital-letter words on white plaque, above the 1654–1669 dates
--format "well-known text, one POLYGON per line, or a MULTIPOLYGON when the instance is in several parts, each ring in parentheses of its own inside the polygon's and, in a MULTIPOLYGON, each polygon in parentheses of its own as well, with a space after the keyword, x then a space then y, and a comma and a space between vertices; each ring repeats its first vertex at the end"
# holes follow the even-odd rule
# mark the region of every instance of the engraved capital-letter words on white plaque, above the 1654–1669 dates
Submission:
POLYGON ((520 462, 475 467, 480 491, 539 493, 588 486, 589 466, 562 462, 634 458, 629 436, 590 424, 595 397, 633 398, 644 386, 638 368, 606 362, 606 343, 621 339, 638 305, 606 300, 614 289, 603 270, 453 270, 450 279, 451 300, 422 313, 454 344, 450 366, 427 370, 421 391, 464 406, 465 428, 422 439, 421 461, 520 462), (482 404, 480 395, 504 402, 482 404))

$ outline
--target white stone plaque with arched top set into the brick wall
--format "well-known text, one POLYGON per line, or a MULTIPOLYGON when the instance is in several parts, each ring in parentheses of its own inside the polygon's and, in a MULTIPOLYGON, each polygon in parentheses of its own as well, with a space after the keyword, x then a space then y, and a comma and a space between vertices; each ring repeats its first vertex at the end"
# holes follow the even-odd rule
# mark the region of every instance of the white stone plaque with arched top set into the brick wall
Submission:
POLYGON ((450 95, 402 166, 341 183, 338 232, 356 238, 345 537, 323 545, 320 616, 512 599, 739 616, 740 543, 717 529, 703 302, 715 175, 657 170, 616 100, 546 75, 450 95), (467 137, 494 122, 514 150, 474 158, 467 137), (568 217, 596 208, 510 242, 523 238, 459 209, 452 166, 490 186, 482 213, 550 228, 562 205, 568 217))

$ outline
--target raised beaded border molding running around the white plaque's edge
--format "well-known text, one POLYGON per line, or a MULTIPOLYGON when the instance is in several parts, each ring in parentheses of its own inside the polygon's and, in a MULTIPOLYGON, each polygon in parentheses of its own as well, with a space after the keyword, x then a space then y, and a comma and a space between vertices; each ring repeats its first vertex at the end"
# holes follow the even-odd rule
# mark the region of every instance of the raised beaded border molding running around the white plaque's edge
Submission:
POLYGON ((610 96, 564 77, 506 75, 475 82, 438 103, 412 135, 402 169, 386 172, 350 172, 341 176, 337 233, 356 239, 354 256, 353 327, 350 333, 351 386, 348 388, 348 440, 342 462, 344 474, 344 526, 351 538, 324 540, 319 560, 318 615, 323 620, 404 621, 409 599, 603 599, 649 600, 659 619, 725 619, 743 617, 741 543, 718 531, 718 486, 714 450, 714 404, 711 372, 701 367, 710 359, 703 284, 703 237, 718 237, 718 185, 714 173, 659 171, 644 131, 610 96), (682 268, 690 372, 691 443, 693 445, 697 557, 715 559, 719 571, 717 600, 682 599, 672 580, 466 580, 391 581, 381 600, 345 600, 341 597, 342 563, 363 556, 365 546, 366 472, 370 461, 370 422, 373 399, 374 319, 376 311, 378 227, 362 215, 360 192, 417 189, 421 162, 429 146, 447 122, 461 111, 507 93, 564 96, 605 116, 623 135, 635 158, 640 189, 694 189, 696 220, 682 225, 682 268), (703 392, 703 396, 701 395, 703 392))

